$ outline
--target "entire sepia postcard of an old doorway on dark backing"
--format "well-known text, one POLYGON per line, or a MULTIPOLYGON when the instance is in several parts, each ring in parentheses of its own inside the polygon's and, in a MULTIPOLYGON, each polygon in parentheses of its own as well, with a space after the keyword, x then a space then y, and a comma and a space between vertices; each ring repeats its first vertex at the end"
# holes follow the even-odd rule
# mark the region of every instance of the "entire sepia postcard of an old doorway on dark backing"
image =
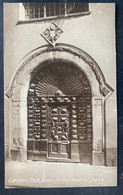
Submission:
POLYGON ((117 186, 115 3, 4 3, 5 188, 117 186))

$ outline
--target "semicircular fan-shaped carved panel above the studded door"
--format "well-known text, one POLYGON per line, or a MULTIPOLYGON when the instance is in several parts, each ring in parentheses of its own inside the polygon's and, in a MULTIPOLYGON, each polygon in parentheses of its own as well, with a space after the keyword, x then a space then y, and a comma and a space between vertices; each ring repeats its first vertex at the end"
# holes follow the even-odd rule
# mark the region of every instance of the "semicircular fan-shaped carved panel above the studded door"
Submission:
POLYGON ((47 60, 42 66, 37 66, 31 74, 31 83, 35 83, 39 95, 46 94, 48 88, 51 88, 48 93, 52 95, 55 90, 65 95, 91 94, 91 85, 85 73, 75 63, 63 59, 47 60))

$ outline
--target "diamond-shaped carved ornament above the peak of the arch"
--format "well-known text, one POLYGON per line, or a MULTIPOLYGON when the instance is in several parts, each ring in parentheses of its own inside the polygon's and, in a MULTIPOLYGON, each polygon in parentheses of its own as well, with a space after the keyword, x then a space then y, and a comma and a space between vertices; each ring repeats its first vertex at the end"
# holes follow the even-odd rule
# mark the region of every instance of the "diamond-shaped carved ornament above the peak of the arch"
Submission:
POLYGON ((63 30, 54 22, 41 34, 41 36, 51 45, 55 45, 55 41, 61 36, 63 30))

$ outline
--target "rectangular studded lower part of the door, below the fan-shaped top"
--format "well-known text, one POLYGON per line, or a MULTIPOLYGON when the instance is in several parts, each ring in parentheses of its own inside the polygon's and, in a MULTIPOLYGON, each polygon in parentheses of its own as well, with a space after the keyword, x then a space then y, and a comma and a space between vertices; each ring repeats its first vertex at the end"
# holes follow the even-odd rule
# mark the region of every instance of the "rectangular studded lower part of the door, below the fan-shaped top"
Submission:
POLYGON ((31 160, 91 162, 91 98, 29 97, 27 150, 31 160))

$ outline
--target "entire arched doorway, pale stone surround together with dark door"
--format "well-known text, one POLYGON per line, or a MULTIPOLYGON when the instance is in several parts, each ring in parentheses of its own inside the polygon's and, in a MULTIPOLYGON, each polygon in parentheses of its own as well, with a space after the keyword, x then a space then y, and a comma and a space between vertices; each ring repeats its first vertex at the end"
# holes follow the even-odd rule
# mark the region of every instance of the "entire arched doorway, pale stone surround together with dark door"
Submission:
MULTIPOLYGON (((9 88, 5 91, 6 96, 9 98, 9 106, 11 108, 9 113, 10 158, 13 160, 54 160, 55 158, 55 160, 58 159, 59 161, 60 159, 63 161, 63 159, 65 158, 65 162, 92 162, 93 165, 104 165, 106 139, 104 102, 112 94, 112 92, 113 89, 106 83, 104 75, 100 70, 98 64, 87 53, 80 50, 79 48, 66 44, 57 44, 55 47, 50 47, 49 45, 47 45, 30 52, 18 64, 11 78, 9 88), (53 67, 55 70, 53 70, 53 67), (54 73, 57 74, 54 75, 54 73), (39 82, 37 82, 36 84, 34 81, 39 82), (48 88, 49 81, 50 83, 52 83, 52 86, 48 88), (34 90, 32 86, 34 87, 34 90), (54 93, 52 94, 51 92, 54 93), (78 105, 77 102, 79 102, 78 98, 80 98, 80 96, 81 101, 80 105, 78 105), (63 102, 61 101, 60 103, 59 101, 57 101, 57 98, 59 99, 61 97, 62 101, 65 100, 65 98, 67 99, 63 102), (54 140, 54 149, 51 146, 51 142, 53 142, 53 140, 44 138, 42 139, 42 137, 37 140, 38 131, 35 134, 37 135, 36 139, 34 137, 30 137, 29 131, 30 134, 32 131, 32 135, 34 136, 34 129, 31 130, 29 128, 29 122, 30 127, 35 127, 33 123, 36 124, 36 122, 37 126, 38 124, 39 126, 40 124, 42 124, 40 123, 40 121, 35 121, 37 119, 34 118, 35 115, 33 114, 33 112, 36 113, 35 109, 37 108, 35 108, 36 105, 31 104, 29 107, 30 98, 34 98, 34 100, 32 101, 33 103, 39 101, 38 103, 40 105, 37 108, 40 107, 40 117, 42 106, 45 106, 52 110, 54 105, 59 104, 60 106, 56 106, 59 107, 60 111, 58 112, 61 112, 62 109, 67 110, 68 118, 70 119, 68 125, 69 133, 68 135, 66 134, 66 136, 68 137, 67 142, 65 143, 65 140, 59 140, 60 138, 58 138, 57 135, 58 143, 64 142, 63 147, 59 146, 58 143, 55 145, 57 140, 54 140), (44 98, 44 101, 46 101, 45 105, 42 105, 41 98, 44 98), (53 98, 53 101, 49 101, 48 98, 53 98), (82 103, 82 101, 86 102, 82 103), (89 102, 89 104, 87 102, 89 102), (63 108, 61 107, 62 103, 63 108), (77 113, 75 117, 77 118, 76 129, 74 129, 76 124, 72 124, 73 103, 77 104, 77 106, 75 105, 75 107, 77 108, 77 110, 75 110, 77 113), (86 109, 84 107, 84 103, 86 105, 86 109), (84 109, 86 110, 86 113, 84 113, 85 116, 83 115, 84 118, 81 118, 81 121, 79 121, 80 119, 78 111, 83 112, 84 109), (29 121, 29 112, 30 114, 32 113, 33 116, 32 124, 31 121, 29 121), (88 112, 90 112, 90 116, 87 117, 88 112), (84 120, 90 120, 90 124, 86 126, 86 136, 84 135, 84 120), (83 132, 82 135, 79 135, 78 133, 79 122, 81 123, 80 125, 83 126, 83 128, 81 128, 81 132, 83 132), (87 138, 87 140, 84 139, 85 137, 87 138), (91 139, 91 141, 89 141, 89 139, 91 139), (41 146, 42 144, 44 145, 43 147, 41 146), (65 151, 62 153, 64 153, 65 155, 60 156, 61 149, 57 149, 58 147, 62 147, 62 150, 65 151), (41 152, 40 148, 46 149, 45 151, 41 152), (53 156, 54 153, 52 155, 50 154, 50 151, 52 149, 53 152, 55 152, 55 156, 53 156), (56 153, 60 153, 60 155, 56 155, 56 153)), ((56 109, 56 107, 53 109, 56 109)), ((53 112, 57 111, 55 110, 53 112)), ((49 114, 48 111, 46 113, 49 114)), ((75 115, 74 113, 73 115, 75 115)), ((45 121, 45 119, 43 118, 42 120, 45 121)), ((73 121, 75 122, 75 120, 73 121)), ((55 125, 56 124, 57 123, 55 122, 55 125)), ((62 126, 64 126, 63 124, 65 125, 64 122, 60 122, 60 125, 58 125, 58 127, 61 128, 62 126)), ((50 125, 48 123, 47 127, 50 128, 49 126, 50 125)), ((51 127, 53 127, 53 125, 51 125, 51 127)), ((60 131, 61 130, 59 129, 59 132, 60 131)), ((42 136, 43 133, 41 132, 43 131, 40 130, 40 135, 42 136)), ((52 132, 52 135, 56 136, 54 132, 52 132)), ((65 136, 65 133, 63 133, 63 136, 65 136)))

